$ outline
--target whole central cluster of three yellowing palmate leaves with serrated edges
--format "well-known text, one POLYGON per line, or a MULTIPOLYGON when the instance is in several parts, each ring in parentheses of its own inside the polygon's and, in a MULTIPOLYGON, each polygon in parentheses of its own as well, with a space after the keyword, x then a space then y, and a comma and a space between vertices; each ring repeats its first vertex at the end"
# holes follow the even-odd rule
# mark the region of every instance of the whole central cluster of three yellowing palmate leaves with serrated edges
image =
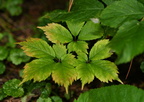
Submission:
POLYGON ((96 42, 92 49, 86 42, 103 36, 100 23, 71 20, 66 21, 66 24, 68 29, 57 23, 39 27, 53 43, 52 46, 38 38, 29 38, 19 43, 28 56, 36 58, 25 65, 22 83, 32 79, 34 82, 43 81, 52 76, 68 92, 68 86, 78 79, 82 82, 82 88, 95 77, 103 82, 121 82, 117 66, 104 60, 112 55, 107 46, 109 40, 96 42))

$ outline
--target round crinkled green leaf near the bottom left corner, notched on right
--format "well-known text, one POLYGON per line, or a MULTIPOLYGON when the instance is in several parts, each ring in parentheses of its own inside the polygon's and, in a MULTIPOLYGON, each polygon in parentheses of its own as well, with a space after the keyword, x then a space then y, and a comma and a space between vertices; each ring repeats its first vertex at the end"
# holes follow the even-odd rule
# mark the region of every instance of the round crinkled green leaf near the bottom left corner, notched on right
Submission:
POLYGON ((19 86, 20 80, 12 79, 3 84, 3 91, 8 96, 12 97, 21 97, 24 94, 24 89, 22 86, 19 86))

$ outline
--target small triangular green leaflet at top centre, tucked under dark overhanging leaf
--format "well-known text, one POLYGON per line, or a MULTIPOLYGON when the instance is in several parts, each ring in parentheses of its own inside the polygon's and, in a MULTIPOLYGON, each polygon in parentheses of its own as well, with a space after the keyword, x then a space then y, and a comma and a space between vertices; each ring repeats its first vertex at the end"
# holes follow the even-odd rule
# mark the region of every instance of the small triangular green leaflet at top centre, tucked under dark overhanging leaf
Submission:
POLYGON ((67 21, 67 26, 73 36, 77 36, 84 25, 84 22, 67 21))

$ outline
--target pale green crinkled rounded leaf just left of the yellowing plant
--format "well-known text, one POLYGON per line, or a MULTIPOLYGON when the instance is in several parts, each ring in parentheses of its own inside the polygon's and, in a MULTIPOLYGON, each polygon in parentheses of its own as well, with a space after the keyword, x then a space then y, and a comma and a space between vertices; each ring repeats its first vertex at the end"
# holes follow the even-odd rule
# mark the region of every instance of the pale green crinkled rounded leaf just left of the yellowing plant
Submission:
POLYGON ((22 62, 27 62, 30 60, 30 57, 26 56, 22 49, 12 49, 8 60, 12 61, 13 64, 18 65, 22 62))

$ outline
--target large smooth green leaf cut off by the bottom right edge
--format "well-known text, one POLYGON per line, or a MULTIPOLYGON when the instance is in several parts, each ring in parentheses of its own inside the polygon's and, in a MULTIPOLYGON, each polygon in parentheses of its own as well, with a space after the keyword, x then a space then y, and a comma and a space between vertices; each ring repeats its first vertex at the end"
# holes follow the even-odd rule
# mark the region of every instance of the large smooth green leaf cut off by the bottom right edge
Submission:
POLYGON ((144 102, 143 96, 144 91, 135 86, 115 85, 87 91, 74 102, 144 102))

